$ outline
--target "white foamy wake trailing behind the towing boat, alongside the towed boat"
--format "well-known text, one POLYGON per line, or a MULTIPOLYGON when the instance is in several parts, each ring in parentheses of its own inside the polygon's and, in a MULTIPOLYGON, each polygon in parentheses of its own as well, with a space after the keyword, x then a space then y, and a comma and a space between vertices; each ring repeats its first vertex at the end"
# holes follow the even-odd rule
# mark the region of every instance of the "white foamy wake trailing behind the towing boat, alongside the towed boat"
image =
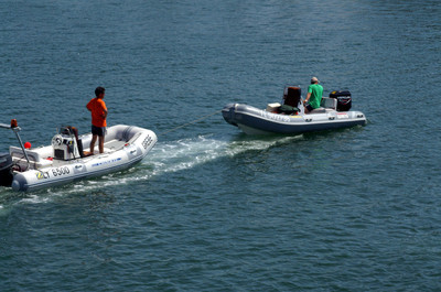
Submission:
MULTIPOLYGON (((190 170, 222 158, 233 158, 246 151, 267 150, 271 147, 289 143, 298 139, 301 139, 301 136, 265 139, 251 139, 240 136, 240 138, 228 141, 227 139, 223 140, 208 134, 176 141, 159 141, 140 164, 129 170, 79 181, 61 187, 29 193, 19 203, 46 203, 52 201, 51 198, 68 194, 90 193, 107 187, 132 184, 166 173, 190 170)), ((1 194, 6 192, 12 191, 0 190, 0 210, 3 208, 1 194)))

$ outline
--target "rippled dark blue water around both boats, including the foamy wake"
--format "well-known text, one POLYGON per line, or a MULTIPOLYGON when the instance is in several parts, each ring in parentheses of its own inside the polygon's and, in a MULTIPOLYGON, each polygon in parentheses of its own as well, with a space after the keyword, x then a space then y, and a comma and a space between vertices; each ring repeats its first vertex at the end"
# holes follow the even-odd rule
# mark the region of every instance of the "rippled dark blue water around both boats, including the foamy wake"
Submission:
POLYGON ((440 1, 0 7, 0 122, 33 147, 89 132, 104 86, 109 126, 159 136, 127 171, 0 187, 0 291, 441 290, 440 1), (312 76, 367 126, 252 137, 222 118, 312 76))

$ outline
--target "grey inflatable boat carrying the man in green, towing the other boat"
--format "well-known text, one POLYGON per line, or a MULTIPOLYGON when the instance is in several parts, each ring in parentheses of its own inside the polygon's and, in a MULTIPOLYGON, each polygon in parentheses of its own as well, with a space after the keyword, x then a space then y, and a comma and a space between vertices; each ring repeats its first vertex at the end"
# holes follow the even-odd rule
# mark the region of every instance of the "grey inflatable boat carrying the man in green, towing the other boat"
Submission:
POLYGON ((245 104, 228 104, 222 110, 224 119, 247 134, 299 134, 366 125, 361 111, 352 111, 349 91, 332 91, 323 97, 321 107, 304 113, 299 87, 288 87, 283 105, 269 104, 259 109, 245 104))

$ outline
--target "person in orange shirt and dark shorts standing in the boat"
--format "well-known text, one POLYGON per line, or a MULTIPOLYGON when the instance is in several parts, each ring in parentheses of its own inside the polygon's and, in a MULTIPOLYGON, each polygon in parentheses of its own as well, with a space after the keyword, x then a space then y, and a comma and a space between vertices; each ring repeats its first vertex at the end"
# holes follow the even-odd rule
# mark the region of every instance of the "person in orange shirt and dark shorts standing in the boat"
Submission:
POLYGON ((87 104, 87 109, 92 112, 92 141, 90 141, 90 154, 94 154, 95 142, 98 139, 99 153, 104 153, 104 138, 106 136, 106 118, 107 107, 103 98, 106 94, 104 87, 97 87, 95 89, 95 98, 90 99, 87 104))

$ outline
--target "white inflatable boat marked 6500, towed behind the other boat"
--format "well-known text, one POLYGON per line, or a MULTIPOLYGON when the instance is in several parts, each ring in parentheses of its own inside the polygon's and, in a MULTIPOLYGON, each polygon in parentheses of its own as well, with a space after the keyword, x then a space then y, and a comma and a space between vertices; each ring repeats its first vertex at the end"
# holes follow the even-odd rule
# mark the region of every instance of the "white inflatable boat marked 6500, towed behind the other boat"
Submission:
POLYGON ((73 127, 62 127, 51 145, 30 149, 20 139, 17 121, 0 123, 0 128, 11 129, 20 142, 20 147, 11 145, 9 153, 0 153, 0 185, 24 192, 128 169, 158 141, 151 130, 118 125, 107 128, 104 153, 97 151, 98 141, 95 153, 87 153, 82 145, 89 145, 92 133, 78 137, 73 127))

